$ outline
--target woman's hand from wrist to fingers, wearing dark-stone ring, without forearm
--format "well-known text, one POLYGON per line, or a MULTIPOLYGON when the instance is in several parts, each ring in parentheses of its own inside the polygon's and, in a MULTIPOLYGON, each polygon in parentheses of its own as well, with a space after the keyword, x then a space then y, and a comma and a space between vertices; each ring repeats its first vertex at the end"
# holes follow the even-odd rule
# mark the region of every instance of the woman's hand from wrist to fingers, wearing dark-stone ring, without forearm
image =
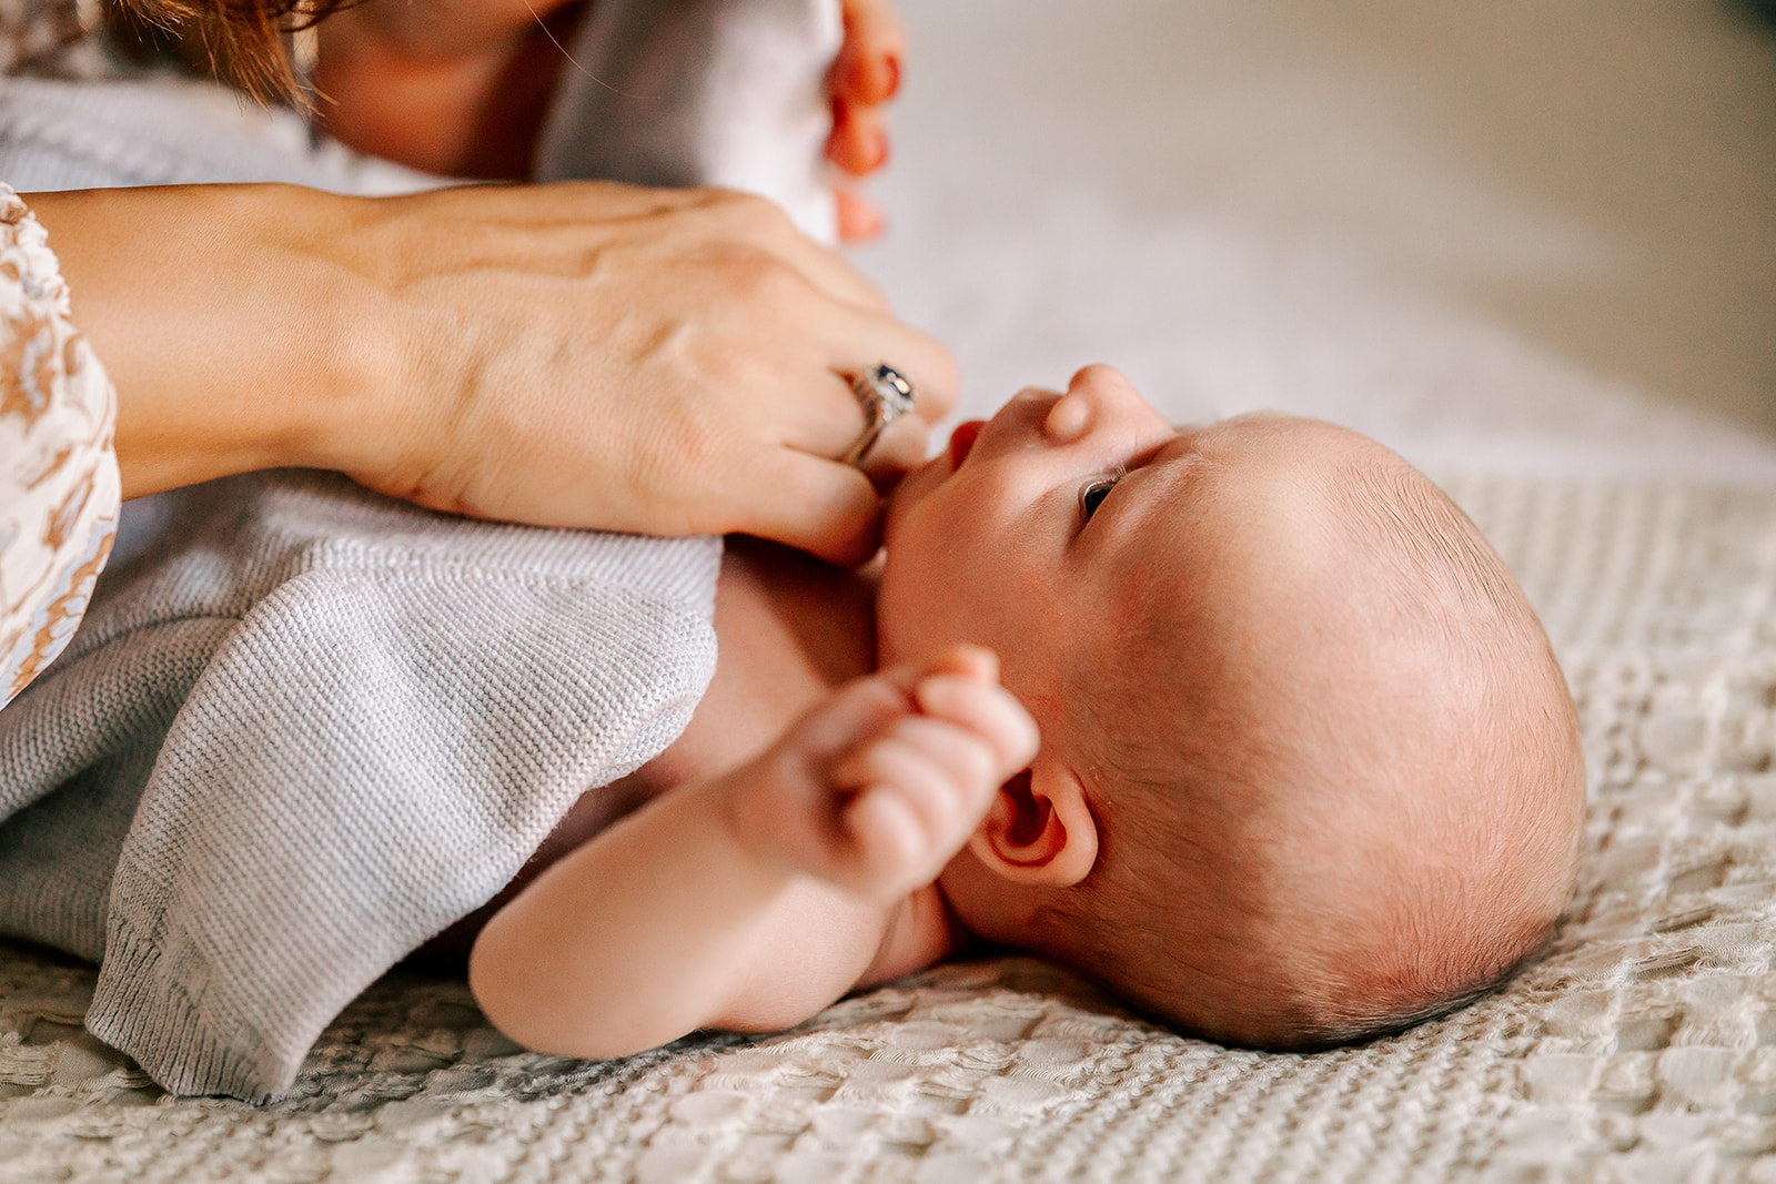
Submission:
POLYGON ((583 183, 353 211, 339 249, 380 312, 353 323, 398 366, 400 430, 350 433, 336 463, 426 506, 854 563, 877 545, 872 478, 955 405, 948 351, 758 199, 583 183), (865 476, 836 458, 867 424, 851 382, 881 364, 915 414, 865 476))

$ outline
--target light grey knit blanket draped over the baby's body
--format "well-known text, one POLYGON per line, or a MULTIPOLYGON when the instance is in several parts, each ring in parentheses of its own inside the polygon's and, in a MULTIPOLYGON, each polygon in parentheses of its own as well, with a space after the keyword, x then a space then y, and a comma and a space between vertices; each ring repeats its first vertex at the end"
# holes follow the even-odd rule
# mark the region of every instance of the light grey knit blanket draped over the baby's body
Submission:
POLYGON ((682 731, 719 554, 327 474, 131 502, 73 644, 0 712, 0 930, 98 960, 87 1026, 163 1086, 281 1093, 682 731))

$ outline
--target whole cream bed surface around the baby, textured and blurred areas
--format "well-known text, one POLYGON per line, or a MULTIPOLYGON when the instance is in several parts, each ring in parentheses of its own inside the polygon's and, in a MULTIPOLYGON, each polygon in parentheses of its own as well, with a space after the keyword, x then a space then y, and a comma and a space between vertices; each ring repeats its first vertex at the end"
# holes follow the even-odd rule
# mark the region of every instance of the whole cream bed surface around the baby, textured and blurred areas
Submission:
POLYGON ((391 976, 293 1095, 172 1099, 0 948, 9 1180, 1776 1180, 1776 34, 1712 0, 902 0, 863 252, 964 414, 1087 360, 1376 435, 1518 572, 1590 854, 1501 994, 1316 1056, 1032 960, 769 1038, 526 1054, 391 976))

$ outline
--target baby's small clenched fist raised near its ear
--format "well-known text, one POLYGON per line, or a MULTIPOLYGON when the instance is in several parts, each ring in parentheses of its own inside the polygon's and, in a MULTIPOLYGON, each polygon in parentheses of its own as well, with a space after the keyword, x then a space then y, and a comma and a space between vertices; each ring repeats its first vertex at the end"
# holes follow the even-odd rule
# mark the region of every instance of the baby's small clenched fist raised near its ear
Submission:
POLYGON ((732 822, 760 856, 888 902, 938 877, 1035 744, 998 659, 955 646, 840 687, 733 774, 732 822))

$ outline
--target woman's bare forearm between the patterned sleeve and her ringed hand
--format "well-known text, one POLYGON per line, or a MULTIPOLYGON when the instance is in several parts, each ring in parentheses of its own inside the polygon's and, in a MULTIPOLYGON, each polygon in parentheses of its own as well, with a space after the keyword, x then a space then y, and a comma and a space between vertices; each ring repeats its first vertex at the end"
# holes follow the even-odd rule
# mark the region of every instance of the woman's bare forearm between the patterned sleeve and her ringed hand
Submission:
POLYGON ((391 350, 343 266, 352 199, 284 185, 28 197, 117 387, 124 497, 281 465, 348 469, 391 350))

